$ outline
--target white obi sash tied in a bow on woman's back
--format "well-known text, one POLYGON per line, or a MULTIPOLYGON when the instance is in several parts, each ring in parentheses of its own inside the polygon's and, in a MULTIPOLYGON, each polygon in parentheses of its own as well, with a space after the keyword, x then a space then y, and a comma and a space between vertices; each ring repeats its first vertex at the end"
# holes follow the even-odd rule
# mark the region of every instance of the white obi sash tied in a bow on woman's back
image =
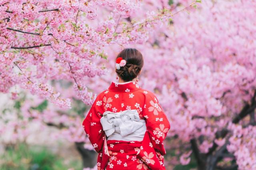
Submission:
POLYGON ((108 140, 142 141, 146 132, 145 120, 140 119, 136 109, 105 111, 100 123, 108 140))

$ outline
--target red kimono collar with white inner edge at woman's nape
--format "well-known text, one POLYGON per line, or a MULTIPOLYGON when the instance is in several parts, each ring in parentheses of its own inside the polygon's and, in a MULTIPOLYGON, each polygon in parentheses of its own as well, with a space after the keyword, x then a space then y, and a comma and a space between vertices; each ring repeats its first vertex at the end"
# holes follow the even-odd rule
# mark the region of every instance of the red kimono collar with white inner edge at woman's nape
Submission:
POLYGON ((134 92, 139 89, 139 85, 133 81, 124 83, 112 82, 108 88, 111 92, 134 92))

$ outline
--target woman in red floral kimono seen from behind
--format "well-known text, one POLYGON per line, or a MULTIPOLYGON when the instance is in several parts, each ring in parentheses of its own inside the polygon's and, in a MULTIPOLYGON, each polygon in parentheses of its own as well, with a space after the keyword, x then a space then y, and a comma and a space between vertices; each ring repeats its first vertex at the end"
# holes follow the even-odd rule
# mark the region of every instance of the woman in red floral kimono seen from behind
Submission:
POLYGON ((137 84, 143 63, 138 50, 122 50, 116 57, 119 81, 97 96, 83 121, 99 153, 98 170, 165 170, 170 123, 156 96, 137 84))

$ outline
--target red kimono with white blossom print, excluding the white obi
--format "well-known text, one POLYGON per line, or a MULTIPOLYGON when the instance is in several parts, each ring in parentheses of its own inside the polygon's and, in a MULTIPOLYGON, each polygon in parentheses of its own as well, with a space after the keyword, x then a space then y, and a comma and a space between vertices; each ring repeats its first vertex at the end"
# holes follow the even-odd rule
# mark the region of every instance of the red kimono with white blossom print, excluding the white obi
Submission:
POLYGON ((96 152, 98 170, 165 170, 163 141, 170 123, 156 96, 136 82, 112 82, 94 101, 83 127, 96 152), (100 122, 105 111, 136 109, 146 122, 142 141, 107 140, 100 122))

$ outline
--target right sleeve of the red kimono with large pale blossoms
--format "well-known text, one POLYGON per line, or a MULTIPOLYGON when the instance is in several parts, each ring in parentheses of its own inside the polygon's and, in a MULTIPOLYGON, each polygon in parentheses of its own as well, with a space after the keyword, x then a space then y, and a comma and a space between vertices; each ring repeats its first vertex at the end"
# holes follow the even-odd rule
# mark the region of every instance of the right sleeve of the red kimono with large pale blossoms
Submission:
POLYGON ((149 132, 154 149, 160 152, 160 154, 165 155, 166 151, 163 141, 170 129, 170 123, 156 96, 151 92, 145 94, 142 116, 145 117, 147 131, 149 132))

